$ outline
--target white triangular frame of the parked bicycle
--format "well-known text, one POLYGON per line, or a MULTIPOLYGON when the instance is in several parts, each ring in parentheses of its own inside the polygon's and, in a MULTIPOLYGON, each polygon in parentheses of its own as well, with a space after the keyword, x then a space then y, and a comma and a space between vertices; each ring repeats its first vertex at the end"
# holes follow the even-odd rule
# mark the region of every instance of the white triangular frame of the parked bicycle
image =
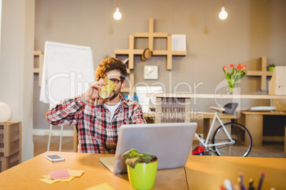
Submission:
POLYGON ((221 118, 218 117, 218 112, 215 112, 215 115, 213 116, 213 121, 211 122, 211 128, 208 130, 208 135, 206 137, 206 141, 203 142, 203 138, 200 138, 198 134, 195 133, 196 138, 198 141, 203 145, 203 147, 213 147, 213 146, 219 146, 219 145, 232 145, 235 143, 235 141, 231 138, 231 135, 228 133, 228 130, 226 130, 226 127, 223 125, 223 122, 221 121, 221 118), (211 136, 211 131, 213 131, 214 123, 218 120, 218 123, 220 123, 223 126, 223 131, 226 133, 226 136, 228 137, 229 142, 225 143, 216 143, 216 144, 208 144, 208 140, 211 136))

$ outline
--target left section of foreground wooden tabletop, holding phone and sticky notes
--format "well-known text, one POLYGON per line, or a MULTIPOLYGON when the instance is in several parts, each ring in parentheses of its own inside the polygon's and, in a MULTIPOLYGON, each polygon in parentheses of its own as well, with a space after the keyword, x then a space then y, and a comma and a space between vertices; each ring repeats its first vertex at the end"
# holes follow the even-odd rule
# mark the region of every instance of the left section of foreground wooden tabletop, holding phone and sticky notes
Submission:
MULTIPOLYGON (((132 189, 127 174, 114 175, 101 162, 100 157, 112 155, 45 152, 31 160, 18 164, 0 173, 0 189, 88 189, 91 186, 107 183, 114 189, 132 189), (43 155, 58 154, 64 162, 50 162, 43 155), (80 178, 69 182, 46 184, 41 176, 58 169, 84 170, 80 178)), ((154 189, 187 189, 184 168, 166 169, 157 172, 154 189)))

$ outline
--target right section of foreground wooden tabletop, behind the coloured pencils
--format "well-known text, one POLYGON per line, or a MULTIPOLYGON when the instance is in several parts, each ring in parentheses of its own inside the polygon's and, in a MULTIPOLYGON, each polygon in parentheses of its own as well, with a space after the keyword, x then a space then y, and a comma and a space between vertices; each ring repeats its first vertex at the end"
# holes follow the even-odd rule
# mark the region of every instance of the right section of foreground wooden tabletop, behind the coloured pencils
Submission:
POLYGON ((285 158, 190 156, 185 169, 189 189, 217 190, 225 179, 237 182, 240 172, 243 172, 246 189, 250 178, 257 188, 263 171, 262 189, 286 189, 285 158))

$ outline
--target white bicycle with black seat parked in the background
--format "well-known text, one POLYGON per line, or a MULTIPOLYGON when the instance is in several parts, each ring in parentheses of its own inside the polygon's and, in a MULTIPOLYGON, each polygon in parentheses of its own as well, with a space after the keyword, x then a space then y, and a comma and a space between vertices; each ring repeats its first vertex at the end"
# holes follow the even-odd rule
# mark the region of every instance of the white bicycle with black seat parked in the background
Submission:
POLYGON ((246 157, 249 154, 253 145, 253 140, 248 129, 240 123, 235 123, 233 121, 223 123, 221 118, 218 116, 218 112, 233 115, 237 106, 237 103, 230 103, 226 104, 224 108, 210 107, 210 109, 215 111, 215 114, 213 116, 211 127, 208 130, 206 140, 201 138, 201 135, 195 134, 206 152, 211 151, 216 152, 219 156, 235 157, 246 157), (210 144, 209 140, 216 120, 221 124, 221 126, 219 126, 213 133, 213 144, 210 144))

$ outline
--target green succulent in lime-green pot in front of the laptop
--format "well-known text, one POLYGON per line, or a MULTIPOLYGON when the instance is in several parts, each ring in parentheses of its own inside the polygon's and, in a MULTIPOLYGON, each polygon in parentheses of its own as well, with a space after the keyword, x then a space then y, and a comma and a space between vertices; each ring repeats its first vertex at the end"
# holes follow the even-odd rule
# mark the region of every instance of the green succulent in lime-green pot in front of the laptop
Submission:
POLYGON ((128 178, 132 188, 152 189, 157 174, 157 157, 134 149, 123 153, 121 157, 126 158, 128 178))

